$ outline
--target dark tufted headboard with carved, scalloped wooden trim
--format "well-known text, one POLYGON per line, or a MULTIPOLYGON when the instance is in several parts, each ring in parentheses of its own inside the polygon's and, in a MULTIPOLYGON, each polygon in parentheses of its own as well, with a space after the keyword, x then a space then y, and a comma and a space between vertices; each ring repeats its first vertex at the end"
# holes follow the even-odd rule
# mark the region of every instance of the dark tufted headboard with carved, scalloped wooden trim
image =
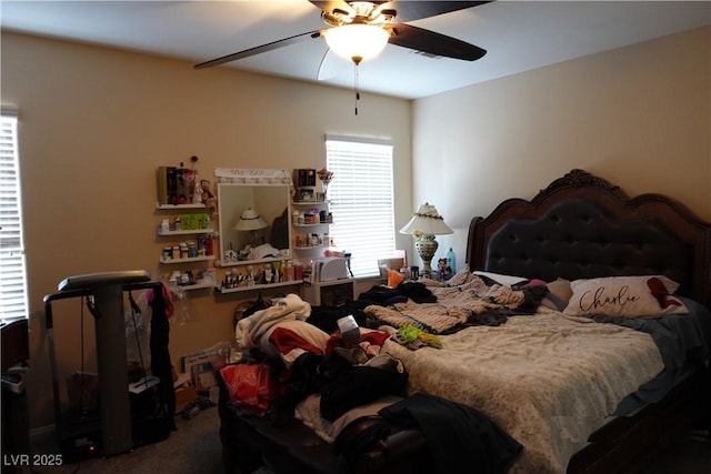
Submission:
POLYGON ((547 281, 664 274, 711 306, 711 223, 661 194, 630 199, 582 170, 472 219, 467 262, 547 281))

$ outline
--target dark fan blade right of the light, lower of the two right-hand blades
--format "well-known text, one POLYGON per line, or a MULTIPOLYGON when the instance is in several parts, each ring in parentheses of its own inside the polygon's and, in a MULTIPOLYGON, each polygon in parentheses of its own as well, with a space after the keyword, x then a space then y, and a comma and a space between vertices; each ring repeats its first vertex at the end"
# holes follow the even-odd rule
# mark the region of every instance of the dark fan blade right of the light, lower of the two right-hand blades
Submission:
POLYGON ((422 51, 428 54, 443 56, 447 58, 462 59, 465 61, 475 61, 482 58, 487 50, 448 37, 434 31, 424 30, 411 24, 393 24, 388 26, 391 31, 388 42, 399 47, 422 51))

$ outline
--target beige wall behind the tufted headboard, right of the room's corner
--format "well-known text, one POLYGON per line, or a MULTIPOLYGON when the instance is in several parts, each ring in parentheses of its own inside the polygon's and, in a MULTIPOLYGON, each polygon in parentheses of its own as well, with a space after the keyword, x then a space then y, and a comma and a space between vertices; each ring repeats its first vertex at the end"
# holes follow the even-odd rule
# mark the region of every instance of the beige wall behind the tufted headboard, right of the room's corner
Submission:
POLYGON ((711 220, 711 28, 418 100, 412 135, 412 205, 437 204, 458 262, 472 215, 573 168, 711 220))

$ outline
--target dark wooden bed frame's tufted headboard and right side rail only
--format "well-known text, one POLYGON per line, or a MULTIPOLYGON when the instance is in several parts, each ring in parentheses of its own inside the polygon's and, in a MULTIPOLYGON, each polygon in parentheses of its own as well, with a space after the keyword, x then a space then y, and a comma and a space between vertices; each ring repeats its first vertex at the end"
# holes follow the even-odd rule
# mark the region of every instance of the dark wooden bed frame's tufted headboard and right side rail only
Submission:
MULTIPOLYGON (((664 274, 679 293, 711 307, 711 223, 661 194, 629 198, 620 188, 572 170, 531 201, 509 199, 469 229, 472 270, 567 280, 664 274)), ((711 427, 711 373, 698 367, 661 402, 593 433, 569 473, 634 473, 665 443, 711 427)))

